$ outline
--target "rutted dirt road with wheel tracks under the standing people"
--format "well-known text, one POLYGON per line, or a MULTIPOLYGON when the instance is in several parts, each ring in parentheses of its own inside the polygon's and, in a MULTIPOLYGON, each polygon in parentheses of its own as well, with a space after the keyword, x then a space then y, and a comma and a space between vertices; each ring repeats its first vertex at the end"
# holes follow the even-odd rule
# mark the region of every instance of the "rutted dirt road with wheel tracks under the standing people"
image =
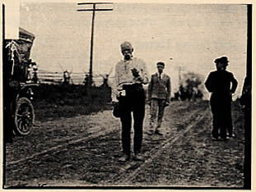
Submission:
MULTIPOLYGON (((144 162, 118 162, 119 119, 111 111, 35 122, 6 149, 6 187, 243 187, 243 113, 233 107, 236 138, 212 141, 207 102, 173 102, 164 137, 143 135, 144 162)), ((148 108, 144 132, 147 132, 148 108)), ((40 115, 40 114, 37 114, 40 115)))

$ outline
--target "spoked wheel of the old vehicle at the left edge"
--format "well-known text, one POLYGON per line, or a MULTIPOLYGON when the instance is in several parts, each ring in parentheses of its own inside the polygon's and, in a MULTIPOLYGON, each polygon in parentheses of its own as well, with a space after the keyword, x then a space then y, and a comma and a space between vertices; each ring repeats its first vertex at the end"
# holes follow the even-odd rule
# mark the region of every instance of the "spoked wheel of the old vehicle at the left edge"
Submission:
POLYGON ((19 98, 14 113, 16 135, 29 135, 35 121, 35 111, 28 98, 19 98))

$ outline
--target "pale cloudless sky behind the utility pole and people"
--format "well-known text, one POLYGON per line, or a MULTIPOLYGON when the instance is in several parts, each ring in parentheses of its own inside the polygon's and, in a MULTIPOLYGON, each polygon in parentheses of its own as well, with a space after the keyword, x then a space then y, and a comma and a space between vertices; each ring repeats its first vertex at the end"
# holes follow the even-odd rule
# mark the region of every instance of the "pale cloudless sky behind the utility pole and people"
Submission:
MULTIPOLYGON (((89 71, 92 13, 77 11, 80 7, 76 2, 21 2, 20 25, 35 34, 30 57, 40 70, 89 71)), ((173 91, 179 67, 206 78, 215 70, 216 57, 227 56, 240 95, 246 71, 245 5, 114 3, 98 8, 105 7, 114 10, 95 13, 94 74, 109 73, 122 58, 120 43, 129 41, 150 74, 156 62, 165 62, 173 91)))

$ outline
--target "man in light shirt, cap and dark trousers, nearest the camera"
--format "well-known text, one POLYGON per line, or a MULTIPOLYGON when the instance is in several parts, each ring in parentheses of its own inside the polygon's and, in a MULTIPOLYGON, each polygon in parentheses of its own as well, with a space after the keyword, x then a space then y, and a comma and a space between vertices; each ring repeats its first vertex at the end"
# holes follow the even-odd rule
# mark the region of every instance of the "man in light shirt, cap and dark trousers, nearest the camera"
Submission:
POLYGON ((121 51, 123 60, 115 66, 116 97, 112 98, 114 103, 119 102, 120 120, 122 123, 123 157, 119 161, 126 162, 131 157, 132 118, 134 124, 133 160, 142 161, 143 158, 140 153, 146 102, 145 90, 142 85, 148 83, 147 66, 141 59, 133 57, 133 46, 131 43, 122 43, 121 51))

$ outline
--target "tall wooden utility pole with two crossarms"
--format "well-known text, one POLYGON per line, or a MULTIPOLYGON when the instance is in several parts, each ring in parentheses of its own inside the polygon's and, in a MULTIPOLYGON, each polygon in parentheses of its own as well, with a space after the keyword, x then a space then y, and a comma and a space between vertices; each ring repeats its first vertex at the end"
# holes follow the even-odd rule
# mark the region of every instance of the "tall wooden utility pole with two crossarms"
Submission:
POLYGON ((113 4, 113 2, 79 2, 77 5, 92 5, 91 9, 77 9, 77 11, 92 11, 91 21, 91 54, 90 54, 90 70, 89 70, 89 86, 92 85, 92 60, 93 60, 93 35, 94 35, 94 21, 95 11, 113 11, 113 9, 97 9, 97 4, 113 4))

